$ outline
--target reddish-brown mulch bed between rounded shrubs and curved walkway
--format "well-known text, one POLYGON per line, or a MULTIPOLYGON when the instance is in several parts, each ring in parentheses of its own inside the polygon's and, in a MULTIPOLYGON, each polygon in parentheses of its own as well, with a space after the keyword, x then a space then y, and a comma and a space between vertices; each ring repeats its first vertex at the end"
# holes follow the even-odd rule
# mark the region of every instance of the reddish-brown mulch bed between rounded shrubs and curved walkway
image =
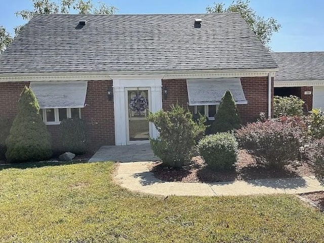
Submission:
POLYGON ((226 182, 313 175, 311 167, 306 162, 300 161, 294 161, 280 170, 257 166, 255 159, 245 150, 239 151, 233 171, 212 171, 206 168, 206 164, 199 156, 193 157, 183 168, 164 167, 161 166, 161 162, 157 162, 150 170, 156 178, 168 182, 226 182))

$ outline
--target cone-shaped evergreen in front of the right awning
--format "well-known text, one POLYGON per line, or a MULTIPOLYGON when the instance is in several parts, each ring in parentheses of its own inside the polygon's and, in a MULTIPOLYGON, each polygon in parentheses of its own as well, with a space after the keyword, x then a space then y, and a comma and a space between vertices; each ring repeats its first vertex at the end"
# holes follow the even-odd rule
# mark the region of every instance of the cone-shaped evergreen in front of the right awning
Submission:
POLYGON ((241 119, 236 109, 235 101, 229 90, 226 91, 219 105, 212 132, 226 132, 240 127, 241 119))

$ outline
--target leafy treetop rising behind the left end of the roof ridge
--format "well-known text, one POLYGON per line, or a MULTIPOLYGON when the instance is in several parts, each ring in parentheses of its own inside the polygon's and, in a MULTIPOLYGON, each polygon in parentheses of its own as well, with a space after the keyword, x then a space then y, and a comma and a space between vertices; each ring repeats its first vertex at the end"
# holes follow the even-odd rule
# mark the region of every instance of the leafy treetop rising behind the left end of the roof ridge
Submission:
MULTIPOLYGON (((16 12, 17 17, 24 20, 30 20, 35 14, 114 14, 116 8, 99 2, 97 5, 92 0, 31 0, 33 10, 21 10, 16 12)), ((15 33, 18 34, 23 25, 15 28, 15 33)))

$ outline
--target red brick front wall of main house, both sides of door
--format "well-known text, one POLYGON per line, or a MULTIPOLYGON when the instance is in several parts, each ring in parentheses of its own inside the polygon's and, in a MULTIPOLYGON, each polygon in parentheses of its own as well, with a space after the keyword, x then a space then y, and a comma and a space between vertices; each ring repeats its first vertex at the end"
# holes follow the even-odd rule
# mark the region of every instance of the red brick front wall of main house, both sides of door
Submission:
MULTIPOLYGON (((241 78, 241 83, 249 103, 237 107, 242 122, 253 122, 258 118, 260 112, 267 114, 268 77, 241 78)), ((29 82, 0 83, 0 117, 13 118, 16 116, 20 93, 25 85, 29 86, 29 82)), ((162 85, 168 89, 167 98, 164 95, 162 97, 164 110, 171 110, 171 106, 178 103, 193 112, 194 107, 188 106, 185 79, 162 80, 162 85)), ((86 107, 82 108, 81 116, 89 127, 89 147, 93 149, 115 144, 114 106, 113 100, 108 100, 107 96, 107 87, 111 86, 111 80, 88 81, 86 107)), ((273 101, 273 96, 271 100, 273 101)), ((52 135, 54 150, 59 151, 61 148, 60 126, 47 125, 47 128, 52 135)))

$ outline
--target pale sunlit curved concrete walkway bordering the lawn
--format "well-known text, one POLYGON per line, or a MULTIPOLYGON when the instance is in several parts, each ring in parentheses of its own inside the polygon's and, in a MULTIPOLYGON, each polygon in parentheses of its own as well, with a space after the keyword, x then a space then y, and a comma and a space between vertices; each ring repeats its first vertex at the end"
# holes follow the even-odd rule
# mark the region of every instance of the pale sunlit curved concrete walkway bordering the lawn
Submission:
POLYGON ((251 194, 298 194, 324 191, 315 177, 258 179, 221 183, 164 182, 149 172, 152 162, 120 163, 115 181, 131 191, 156 195, 229 196, 251 194))

